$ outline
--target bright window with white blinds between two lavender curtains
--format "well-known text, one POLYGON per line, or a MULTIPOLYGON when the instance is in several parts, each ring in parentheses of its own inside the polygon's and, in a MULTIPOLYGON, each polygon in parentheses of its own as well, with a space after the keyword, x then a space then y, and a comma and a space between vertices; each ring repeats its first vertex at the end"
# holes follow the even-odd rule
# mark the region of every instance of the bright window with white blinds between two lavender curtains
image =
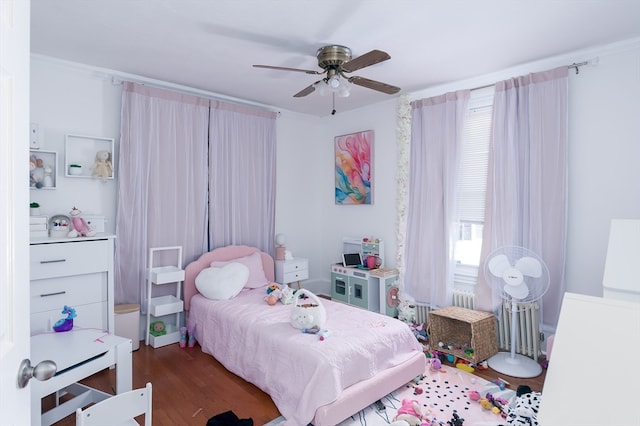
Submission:
POLYGON ((456 284, 473 285, 478 273, 492 113, 493 87, 473 91, 464 128, 456 191, 456 284))

